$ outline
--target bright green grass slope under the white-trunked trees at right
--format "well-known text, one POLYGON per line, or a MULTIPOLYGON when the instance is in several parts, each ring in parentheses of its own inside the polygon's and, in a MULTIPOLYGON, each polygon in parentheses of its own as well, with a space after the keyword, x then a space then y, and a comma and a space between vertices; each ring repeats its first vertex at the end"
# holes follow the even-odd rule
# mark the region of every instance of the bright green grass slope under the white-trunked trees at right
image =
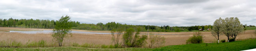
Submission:
POLYGON ((256 48, 256 39, 234 41, 229 43, 206 43, 203 44, 188 44, 174 45, 157 48, 155 51, 241 51, 256 48))

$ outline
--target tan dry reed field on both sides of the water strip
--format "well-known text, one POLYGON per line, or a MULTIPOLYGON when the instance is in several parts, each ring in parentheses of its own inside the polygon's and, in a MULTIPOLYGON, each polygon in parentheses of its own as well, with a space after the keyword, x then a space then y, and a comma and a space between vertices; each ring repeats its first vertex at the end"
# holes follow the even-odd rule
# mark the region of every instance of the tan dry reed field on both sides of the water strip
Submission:
MULTIPOLYGON (((0 29, 3 29, 1 27, 0 29)), ((6 29, 15 29, 15 28, 6 28, 6 29)), ((51 30, 51 29, 28 29, 28 28, 18 28, 18 29, 25 29, 25 30, 51 30)), ((79 31, 79 30, 76 30, 79 31)), ((82 30, 81 30, 82 31, 82 30)), ((104 31, 108 32, 108 31, 104 31)), ((247 30, 245 33, 241 33, 241 35, 237 36, 237 40, 241 39, 247 39, 247 38, 255 38, 256 36, 253 35, 254 30, 247 30)), ((146 32, 142 32, 146 33, 146 32)), ((166 34, 166 35, 160 35, 166 38, 165 46, 169 45, 183 45, 186 44, 186 40, 193 36, 193 32, 150 32, 152 34, 166 34)), ((201 32, 204 36, 203 41, 204 43, 214 43, 216 42, 215 37, 212 36, 211 32, 201 32)), ((23 44, 30 41, 39 41, 39 40, 45 40, 50 43, 54 43, 54 39, 51 37, 52 34, 44 34, 44 33, 37 33, 37 34, 24 34, 24 33, 18 33, 18 32, 0 32, 0 40, 15 40, 19 41, 23 44)), ((64 45, 70 45, 72 43, 78 43, 78 44, 105 44, 110 45, 111 42, 111 34, 82 34, 82 33, 73 33, 72 37, 69 37, 68 39, 65 39, 63 41, 64 45)), ((121 37, 122 38, 122 35, 121 37)), ((220 36, 220 40, 226 39, 227 37, 225 35, 220 36)), ((120 39, 122 40, 122 39, 120 39)), ((150 43, 149 40, 147 40, 147 43, 150 43)), ((148 46, 148 45, 146 45, 148 46)))

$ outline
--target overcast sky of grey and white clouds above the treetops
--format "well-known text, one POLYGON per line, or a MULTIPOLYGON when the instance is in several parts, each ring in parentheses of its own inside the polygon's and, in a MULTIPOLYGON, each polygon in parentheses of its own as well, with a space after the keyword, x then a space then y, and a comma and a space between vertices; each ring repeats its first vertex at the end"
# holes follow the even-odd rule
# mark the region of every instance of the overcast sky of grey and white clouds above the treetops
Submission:
POLYGON ((219 17, 238 17, 256 25, 255 0, 0 0, 2 19, 58 20, 133 25, 208 25, 219 17))

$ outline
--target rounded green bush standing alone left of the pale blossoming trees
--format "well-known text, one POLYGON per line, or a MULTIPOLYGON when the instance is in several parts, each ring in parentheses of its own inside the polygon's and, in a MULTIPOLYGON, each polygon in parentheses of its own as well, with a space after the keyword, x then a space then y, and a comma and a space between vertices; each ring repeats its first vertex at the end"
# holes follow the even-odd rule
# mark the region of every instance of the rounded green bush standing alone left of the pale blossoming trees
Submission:
POLYGON ((200 44, 203 43, 203 35, 202 33, 198 32, 194 32, 194 35, 192 37, 190 37, 189 39, 186 40, 186 44, 200 44))

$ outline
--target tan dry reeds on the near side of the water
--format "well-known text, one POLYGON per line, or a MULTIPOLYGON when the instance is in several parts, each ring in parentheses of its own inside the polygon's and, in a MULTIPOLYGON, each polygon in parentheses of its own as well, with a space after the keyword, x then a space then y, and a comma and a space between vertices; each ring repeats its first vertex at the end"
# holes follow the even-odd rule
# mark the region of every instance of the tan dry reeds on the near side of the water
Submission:
MULTIPOLYGON (((237 36, 237 40, 241 39, 248 39, 248 38, 256 38, 256 36, 253 34, 254 30, 247 30, 240 35, 237 36)), ((157 33, 157 32, 153 32, 157 33)), ((165 46, 169 45, 184 45, 186 44, 186 40, 193 36, 193 32, 158 32, 158 34, 166 34, 166 35, 159 35, 166 38, 165 46), (175 35, 173 35, 175 34, 175 35)), ((211 32, 202 32, 203 36, 203 42, 204 43, 216 43, 215 37, 211 35, 211 32)), ((111 48, 112 41, 111 41, 111 34, 83 34, 83 33, 73 33, 72 37, 66 38, 63 41, 64 46, 74 46, 77 45, 79 47, 90 47, 90 48, 102 48, 102 47, 108 47, 111 48), (85 44, 86 43, 86 44, 85 44), (88 46, 88 45, 94 45, 94 46, 88 46)), ((225 35, 220 36, 220 40, 226 39, 227 37, 225 35)), ((55 40, 51 37, 50 33, 37 33, 37 34, 25 34, 25 33, 18 33, 18 32, 0 32, 0 41, 8 40, 6 45, 11 45, 11 47, 15 47, 15 45, 19 46, 20 44, 26 45, 26 43, 37 43, 41 40, 44 40, 46 42, 47 46, 44 47, 54 47, 55 46, 55 40), (11 44, 13 42, 14 44, 11 44), (49 45, 53 44, 53 45, 49 45)), ((122 40, 122 35, 120 36, 120 40, 122 40)), ((5 44, 4 43, 4 44, 5 44)), ((147 40, 147 43, 150 43, 149 40, 147 40)), ((145 47, 147 47, 148 44, 146 44, 145 47)), ((27 46, 25 46, 27 47, 27 46)), ((31 46, 31 47, 37 47, 37 46, 31 46)))

